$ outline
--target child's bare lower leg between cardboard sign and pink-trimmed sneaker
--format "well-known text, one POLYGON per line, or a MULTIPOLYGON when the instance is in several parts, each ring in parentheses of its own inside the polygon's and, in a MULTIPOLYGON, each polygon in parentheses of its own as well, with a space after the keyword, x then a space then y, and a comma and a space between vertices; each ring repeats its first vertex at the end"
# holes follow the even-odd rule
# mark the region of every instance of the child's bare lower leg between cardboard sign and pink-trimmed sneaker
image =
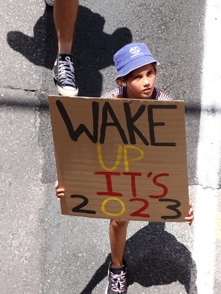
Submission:
POLYGON ((128 223, 128 220, 110 220, 110 249, 113 266, 121 266, 123 264, 123 250, 128 223))

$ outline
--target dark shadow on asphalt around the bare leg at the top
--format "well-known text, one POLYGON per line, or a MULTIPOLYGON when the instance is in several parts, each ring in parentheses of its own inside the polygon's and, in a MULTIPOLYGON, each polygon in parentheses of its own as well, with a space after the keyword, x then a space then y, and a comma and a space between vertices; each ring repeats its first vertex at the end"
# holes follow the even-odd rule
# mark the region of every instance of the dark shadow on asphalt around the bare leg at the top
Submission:
MULTIPOLYGON (((129 29, 119 28, 109 35, 103 31, 104 24, 100 14, 79 6, 72 48, 79 96, 100 96, 102 76, 99 70, 112 65, 116 51, 131 43, 129 29)), ((8 32, 8 44, 33 64, 52 69, 58 51, 52 7, 46 5, 33 31, 33 37, 19 31, 8 32)))

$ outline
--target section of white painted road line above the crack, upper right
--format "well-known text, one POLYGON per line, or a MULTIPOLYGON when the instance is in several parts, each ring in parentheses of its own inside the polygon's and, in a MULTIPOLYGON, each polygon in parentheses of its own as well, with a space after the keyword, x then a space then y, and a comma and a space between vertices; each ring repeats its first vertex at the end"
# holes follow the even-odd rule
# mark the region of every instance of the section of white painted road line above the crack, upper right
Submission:
POLYGON ((199 185, 213 189, 218 188, 220 182, 220 27, 221 2, 220 0, 207 0, 197 176, 199 185))

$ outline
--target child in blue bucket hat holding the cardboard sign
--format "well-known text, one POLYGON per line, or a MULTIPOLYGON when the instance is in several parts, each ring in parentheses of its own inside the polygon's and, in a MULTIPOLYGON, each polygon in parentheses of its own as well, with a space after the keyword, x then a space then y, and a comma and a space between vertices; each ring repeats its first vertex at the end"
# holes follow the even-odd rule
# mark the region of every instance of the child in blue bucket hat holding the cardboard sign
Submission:
MULTIPOLYGON (((118 74, 117 88, 105 93, 103 98, 129 98, 173 100, 163 91, 156 88, 156 65, 159 63, 152 57, 143 43, 128 44, 114 55, 114 63, 118 74)), ((55 183, 56 196, 60 200, 64 196, 64 189, 59 189, 55 183)), ((193 208, 189 201, 189 217, 185 217, 186 224, 191 225, 193 208)), ((110 220, 110 248, 112 260, 108 267, 108 285, 105 294, 127 293, 126 262, 123 251, 126 242, 128 220, 110 220)))

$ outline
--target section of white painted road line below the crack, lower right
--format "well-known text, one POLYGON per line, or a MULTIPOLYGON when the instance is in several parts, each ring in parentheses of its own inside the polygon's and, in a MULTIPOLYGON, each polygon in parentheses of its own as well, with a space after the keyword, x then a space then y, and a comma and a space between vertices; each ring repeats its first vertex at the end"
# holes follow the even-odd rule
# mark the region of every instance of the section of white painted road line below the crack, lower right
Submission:
POLYGON ((192 253, 197 267, 197 294, 213 294, 217 196, 218 190, 197 186, 192 253))

